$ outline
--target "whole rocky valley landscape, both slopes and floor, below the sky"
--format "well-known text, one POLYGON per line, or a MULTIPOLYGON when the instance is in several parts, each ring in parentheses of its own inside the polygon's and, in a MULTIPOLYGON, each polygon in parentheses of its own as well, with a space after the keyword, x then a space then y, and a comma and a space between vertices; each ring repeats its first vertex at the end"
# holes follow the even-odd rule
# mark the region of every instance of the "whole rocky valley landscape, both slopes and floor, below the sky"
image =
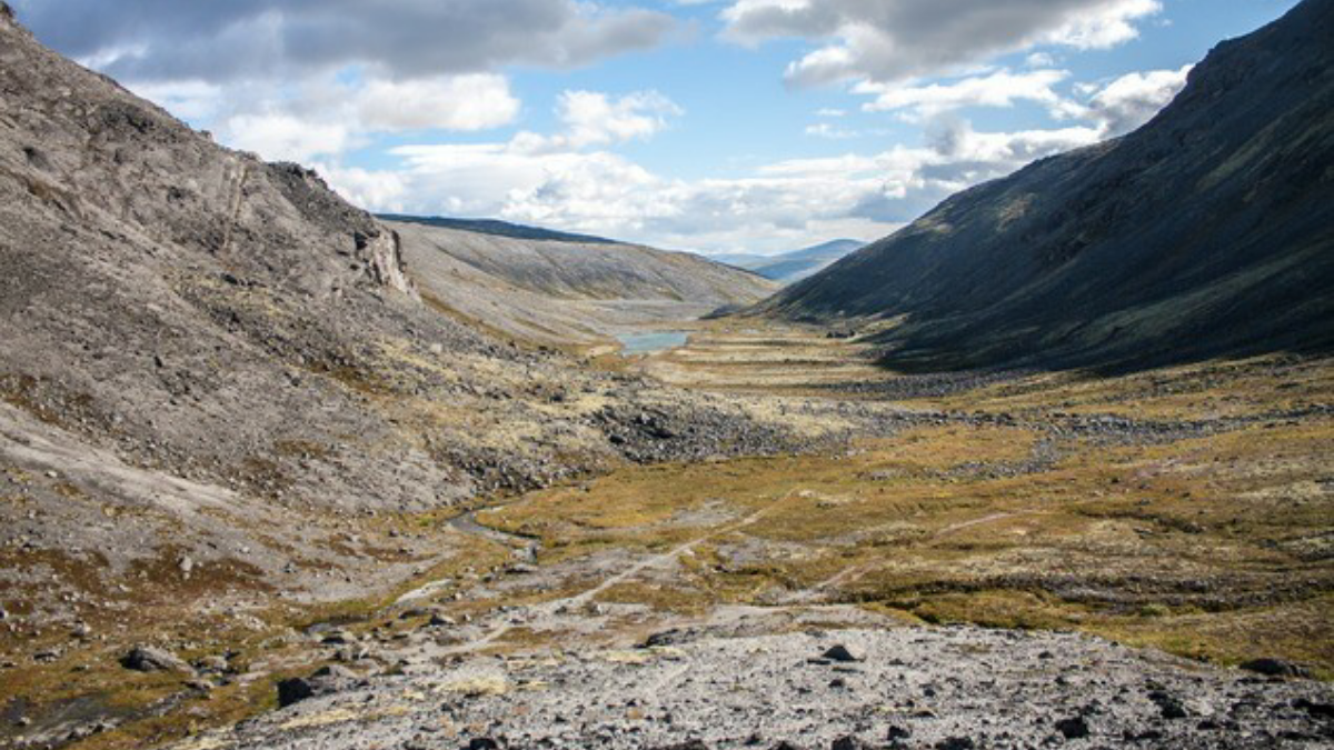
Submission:
POLYGON ((766 278, 372 215, 0 1, 0 747, 1329 747, 1330 28, 766 278))

